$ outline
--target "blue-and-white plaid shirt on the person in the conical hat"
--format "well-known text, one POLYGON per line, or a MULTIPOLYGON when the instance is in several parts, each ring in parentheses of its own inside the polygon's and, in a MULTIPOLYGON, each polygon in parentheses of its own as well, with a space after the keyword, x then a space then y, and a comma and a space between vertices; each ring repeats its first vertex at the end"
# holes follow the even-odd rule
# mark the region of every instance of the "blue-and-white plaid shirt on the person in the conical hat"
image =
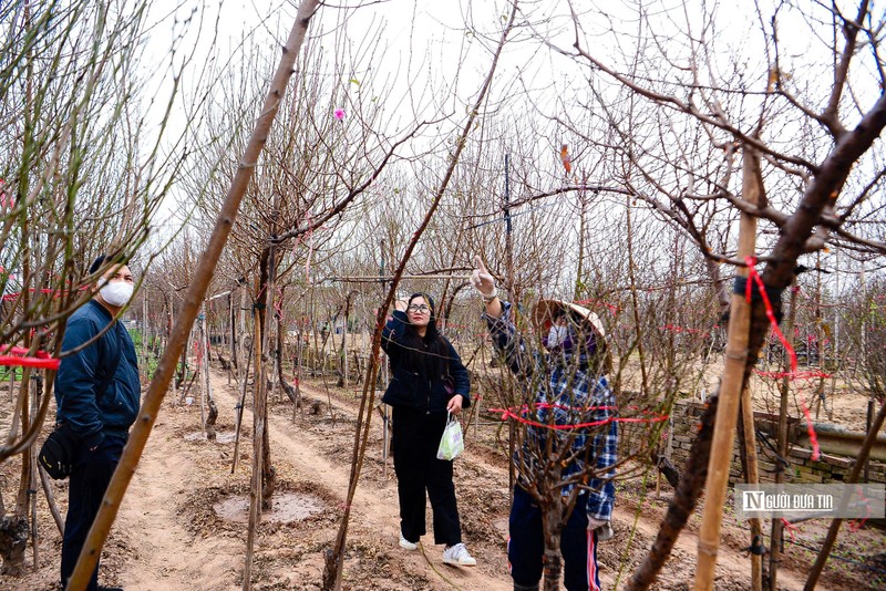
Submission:
MULTIPOLYGON (((604 376, 587 373, 570 364, 569 356, 562 352, 542 355, 529 351, 526 342, 517 335, 511 321, 511 303, 502 302, 502 315, 497 319, 483 314, 493 344, 505 357, 515 375, 535 388, 534 408, 524 415, 530 422, 544 425, 583 425, 605 422, 616 415, 615 396, 604 376)), ((555 442, 569 444, 569 449, 553 446, 553 453, 563 454, 565 465, 560 478, 563 496, 583 483, 588 490, 587 514, 608 521, 615 504, 615 464, 617 462, 618 424, 615 421, 599 426, 575 429, 554 429, 527 425, 524 452, 532 447, 545 449, 545 437, 555 436, 555 442), (540 444, 540 446, 539 446, 540 444), (588 477, 583 477, 584 474, 588 477), (586 484, 585 480, 587 480, 586 484)), ((518 470, 533 470, 532 454, 517 452, 515 464, 518 470)), ((540 467, 539 467, 540 468, 540 467)), ((525 477, 525 475, 524 475, 525 477)))

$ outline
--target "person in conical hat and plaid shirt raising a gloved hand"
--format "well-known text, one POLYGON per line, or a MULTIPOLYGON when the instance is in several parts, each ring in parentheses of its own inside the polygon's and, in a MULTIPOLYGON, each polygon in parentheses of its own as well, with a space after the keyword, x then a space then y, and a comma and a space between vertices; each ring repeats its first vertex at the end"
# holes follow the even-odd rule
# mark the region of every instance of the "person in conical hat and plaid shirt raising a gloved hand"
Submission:
POLYGON ((536 351, 532 341, 518 334, 513 308, 498 299, 495 279, 480 257, 474 258, 474 266, 471 282, 483 299, 490 336, 512 372, 534 393, 533 416, 538 425, 526 426, 524 445, 513 458, 519 476, 508 520, 507 558, 514 590, 538 590, 545 552, 540 505, 549 498, 549 489, 558 488, 564 506, 575 498, 560 530, 563 582, 569 590, 598 591, 597 543, 612 537, 618 447, 615 397, 606 379, 611 361, 602 323, 597 314, 575 303, 542 300, 530 317, 543 336, 542 351, 536 351), (545 424, 579 426, 560 431, 545 428, 545 424), (585 426, 588 424, 594 426, 585 426), (569 446, 569 459, 563 465, 539 457, 545 449, 564 457, 559 442, 569 446))

